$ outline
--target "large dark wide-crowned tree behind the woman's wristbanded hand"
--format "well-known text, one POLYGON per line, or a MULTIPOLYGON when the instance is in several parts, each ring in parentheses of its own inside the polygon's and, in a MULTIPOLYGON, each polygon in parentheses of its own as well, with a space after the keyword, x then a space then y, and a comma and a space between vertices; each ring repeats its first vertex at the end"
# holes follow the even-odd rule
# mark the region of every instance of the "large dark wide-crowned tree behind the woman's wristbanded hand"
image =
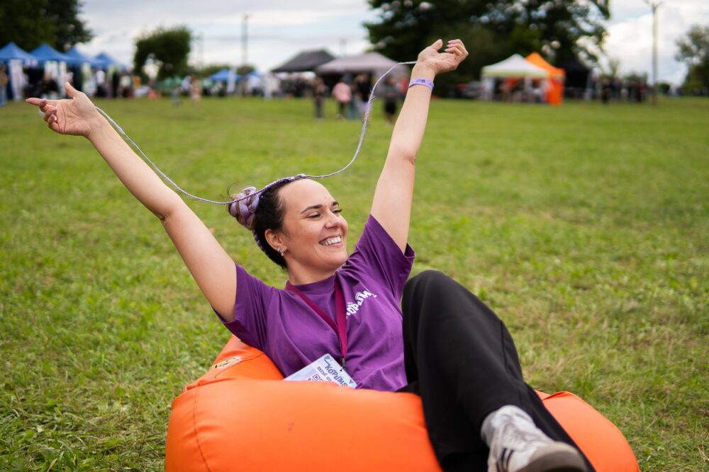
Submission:
POLYGON ((411 60, 437 38, 455 35, 471 55, 445 80, 479 76, 480 69, 513 52, 542 52, 553 62, 581 55, 596 60, 603 44, 609 0, 369 0, 379 21, 367 23, 374 49, 411 60))

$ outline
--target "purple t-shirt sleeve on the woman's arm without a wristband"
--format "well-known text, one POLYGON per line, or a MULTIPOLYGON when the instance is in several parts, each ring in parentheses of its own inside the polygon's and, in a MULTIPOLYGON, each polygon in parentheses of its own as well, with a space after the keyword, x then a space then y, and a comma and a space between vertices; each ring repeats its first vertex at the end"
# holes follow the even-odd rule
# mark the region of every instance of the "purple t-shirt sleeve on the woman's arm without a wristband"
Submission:
POLYGON ((267 338, 267 306, 274 290, 236 264, 234 321, 224 321, 219 316, 220 320, 244 343, 263 350, 267 338))

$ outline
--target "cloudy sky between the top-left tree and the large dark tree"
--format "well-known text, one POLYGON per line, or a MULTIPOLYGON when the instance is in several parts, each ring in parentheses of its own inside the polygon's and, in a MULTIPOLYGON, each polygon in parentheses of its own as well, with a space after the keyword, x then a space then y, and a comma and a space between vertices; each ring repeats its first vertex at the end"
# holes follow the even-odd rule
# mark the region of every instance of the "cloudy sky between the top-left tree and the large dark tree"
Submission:
POLYGON ((240 64, 245 13, 248 62, 260 70, 305 49, 363 52, 369 42, 362 23, 376 17, 364 0, 88 0, 83 16, 96 38, 81 49, 106 51, 129 64, 135 38, 161 26, 186 25, 203 38, 201 48, 193 47, 193 62, 240 64))

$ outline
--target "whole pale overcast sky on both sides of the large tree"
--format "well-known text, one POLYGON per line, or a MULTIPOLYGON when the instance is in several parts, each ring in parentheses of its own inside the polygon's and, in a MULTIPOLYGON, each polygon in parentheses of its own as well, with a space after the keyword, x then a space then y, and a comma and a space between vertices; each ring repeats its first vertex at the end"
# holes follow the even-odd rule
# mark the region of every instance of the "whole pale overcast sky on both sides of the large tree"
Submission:
MULTIPOLYGON (((651 9, 644 0, 610 4, 606 54, 620 60, 621 73, 650 76, 651 9)), ((203 38, 194 43, 191 62, 241 64, 245 14, 247 62, 259 71, 276 67, 301 50, 325 48, 335 55, 364 52, 369 42, 362 23, 377 18, 366 0, 84 0, 82 17, 96 38, 79 49, 89 54, 108 52, 130 64, 135 38, 141 33, 186 25, 203 38)), ((675 41, 690 25, 709 24, 709 1, 664 0, 658 19, 659 80, 679 84, 686 68, 674 60, 675 41)))

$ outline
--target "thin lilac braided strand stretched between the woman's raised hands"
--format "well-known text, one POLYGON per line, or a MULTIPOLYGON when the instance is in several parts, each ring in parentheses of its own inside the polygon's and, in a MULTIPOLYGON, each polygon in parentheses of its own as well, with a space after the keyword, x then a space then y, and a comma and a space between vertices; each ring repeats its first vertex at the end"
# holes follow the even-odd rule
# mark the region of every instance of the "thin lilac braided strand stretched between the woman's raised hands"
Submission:
POLYGON ((157 165, 153 161, 151 161, 150 158, 148 158, 148 156, 145 155, 145 153, 143 152, 143 149, 140 149, 140 146, 138 146, 138 144, 135 144, 135 141, 133 141, 133 139, 130 139, 130 136, 128 136, 128 134, 126 134, 125 131, 123 131, 123 128, 121 128, 118 125, 118 123, 116 123, 113 120, 113 118, 108 116, 108 113, 106 113, 104 110, 101 110, 101 108, 99 108, 99 107, 96 107, 96 110, 99 110, 99 113, 101 113, 101 115, 104 115, 104 117, 106 117, 106 120, 108 120, 108 122, 111 123, 111 125, 114 128, 116 128, 116 131, 118 132, 118 134, 121 134, 121 137, 123 137, 123 139, 125 139, 125 141, 127 141, 131 146, 133 146, 133 148, 135 148, 135 150, 138 151, 140 156, 143 156, 143 159, 145 159, 145 161, 147 161, 147 163, 149 163, 150 166, 153 169, 155 169, 155 172, 157 172, 167 183, 172 185, 172 187, 175 190, 182 193, 183 195, 186 195, 187 197, 194 198, 194 200, 199 200, 200 202, 212 203, 214 205, 230 205, 232 203, 240 202, 241 200, 246 200, 247 198, 251 198, 254 195, 259 195, 260 193, 264 192, 264 190, 268 190, 272 186, 276 185, 277 183, 281 183, 284 180, 293 180, 296 177, 298 177, 298 178, 327 178, 327 177, 332 177, 333 175, 336 175, 340 172, 347 170, 347 168, 352 166, 352 163, 354 163, 354 160, 357 159, 357 154, 359 154, 359 149, 362 149, 362 142, 364 141, 364 133, 367 132, 367 124, 369 122, 369 112, 372 110, 372 103, 374 103, 374 98, 375 98, 374 97, 374 90, 376 89, 376 86, 378 86, 379 82, 381 82, 381 79, 384 79, 384 77, 386 77, 389 74, 389 72, 391 72, 395 67, 402 65, 402 64, 415 64, 415 63, 416 63, 415 61, 409 61, 409 62, 399 62, 398 64, 394 64, 388 71, 384 72, 384 74, 382 74, 379 77, 379 79, 376 80, 376 82, 374 82, 374 86, 372 87, 372 91, 370 91, 370 93, 369 93, 369 100, 367 100, 367 108, 365 108, 365 110, 364 110, 364 119, 362 122, 362 132, 359 134, 359 143, 357 144, 357 150, 354 151, 354 156, 352 156, 352 159, 350 160, 349 163, 347 163, 347 165, 345 167, 341 168, 339 171, 335 171, 335 172, 331 172, 331 173, 327 173, 327 174, 323 174, 323 175, 309 175, 309 174, 301 173, 298 175, 293 175, 291 177, 279 178, 277 180, 274 180, 272 183, 269 183, 268 185, 264 186, 260 190, 256 190, 255 192, 251 192, 249 195, 245 195, 240 198, 235 198, 234 200, 229 200, 228 202, 217 202, 215 200, 208 200, 207 198, 198 197, 197 195, 193 195, 190 192, 187 192, 186 190, 182 189, 179 185, 177 185, 177 183, 174 182, 174 180, 169 178, 166 173, 161 171, 160 168, 158 168, 157 165))

